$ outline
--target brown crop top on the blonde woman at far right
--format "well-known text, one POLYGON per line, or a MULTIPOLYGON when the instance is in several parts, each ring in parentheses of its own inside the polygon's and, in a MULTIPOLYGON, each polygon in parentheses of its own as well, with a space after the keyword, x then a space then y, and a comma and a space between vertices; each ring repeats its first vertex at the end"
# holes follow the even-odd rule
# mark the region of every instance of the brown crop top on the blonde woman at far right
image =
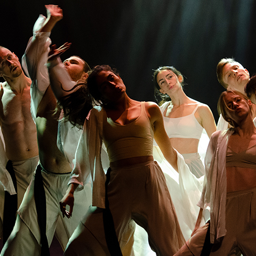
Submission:
POLYGON ((256 145, 253 145, 240 153, 235 153, 230 147, 228 147, 226 156, 226 166, 256 169, 255 156, 256 145))

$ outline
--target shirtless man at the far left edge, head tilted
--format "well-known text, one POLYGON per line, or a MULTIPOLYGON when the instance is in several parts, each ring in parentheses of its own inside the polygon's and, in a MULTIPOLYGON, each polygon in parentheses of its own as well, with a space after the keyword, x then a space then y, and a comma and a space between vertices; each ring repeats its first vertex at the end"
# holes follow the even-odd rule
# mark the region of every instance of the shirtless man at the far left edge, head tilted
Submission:
MULTIPOLYGON (((4 193, 3 187, 0 187, 0 237, 3 229, 5 243, 15 223, 17 206, 21 204, 38 163, 38 148, 36 125, 30 113, 31 80, 23 73, 18 57, 2 46, 0 46, 0 76, 5 80, 0 83, 0 125, 6 158, 9 160, 6 169, 17 191, 17 195, 11 196, 6 191, 4 193)), ((2 161, 3 159, 2 156, 2 161)), ((2 164, 5 166, 6 162, 2 164)))

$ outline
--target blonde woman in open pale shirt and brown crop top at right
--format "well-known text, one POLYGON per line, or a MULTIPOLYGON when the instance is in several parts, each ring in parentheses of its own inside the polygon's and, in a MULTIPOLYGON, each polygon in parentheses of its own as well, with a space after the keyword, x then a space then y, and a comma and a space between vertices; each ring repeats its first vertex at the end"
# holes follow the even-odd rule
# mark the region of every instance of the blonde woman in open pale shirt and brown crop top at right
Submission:
MULTIPOLYGON (((210 206, 210 255, 229 255, 235 247, 244 256, 256 255, 256 128, 251 107, 252 102, 238 91, 223 92, 218 102, 222 117, 232 128, 212 135, 205 157, 198 220, 210 206)), ((207 226, 196 225, 195 234, 175 256, 202 255, 206 230, 207 226)))

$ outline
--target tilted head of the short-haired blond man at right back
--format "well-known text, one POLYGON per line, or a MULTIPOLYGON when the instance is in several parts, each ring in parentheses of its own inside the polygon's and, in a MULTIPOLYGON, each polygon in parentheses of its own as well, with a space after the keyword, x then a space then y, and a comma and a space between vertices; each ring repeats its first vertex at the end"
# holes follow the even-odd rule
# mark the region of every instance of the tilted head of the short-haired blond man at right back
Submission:
POLYGON ((244 92, 244 87, 250 79, 249 71, 233 58, 221 59, 216 73, 219 83, 225 89, 240 92, 244 92))

